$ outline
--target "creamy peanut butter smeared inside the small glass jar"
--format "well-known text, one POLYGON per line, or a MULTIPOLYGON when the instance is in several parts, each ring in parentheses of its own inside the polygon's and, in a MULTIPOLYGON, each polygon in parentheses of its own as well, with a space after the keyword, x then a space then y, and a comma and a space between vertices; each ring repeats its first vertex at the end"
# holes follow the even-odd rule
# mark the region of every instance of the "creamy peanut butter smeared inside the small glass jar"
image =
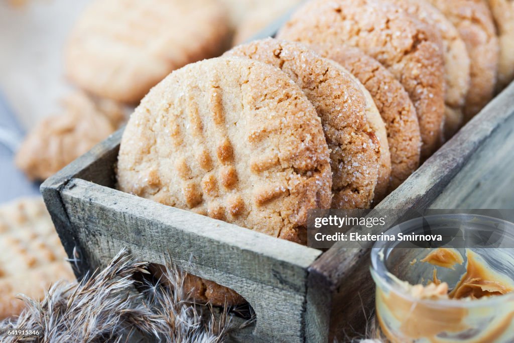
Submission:
MULTIPOLYGON (((514 293, 509 296, 514 280, 495 272, 469 249, 466 258, 466 272, 451 290, 448 282, 438 279, 435 267, 428 285, 412 285, 388 274, 394 286, 387 287, 374 274, 382 334, 392 343, 514 341, 514 293), (491 305, 488 299, 501 295, 506 297, 491 305)), ((440 248, 419 262, 454 270, 464 259, 455 249, 440 248)))

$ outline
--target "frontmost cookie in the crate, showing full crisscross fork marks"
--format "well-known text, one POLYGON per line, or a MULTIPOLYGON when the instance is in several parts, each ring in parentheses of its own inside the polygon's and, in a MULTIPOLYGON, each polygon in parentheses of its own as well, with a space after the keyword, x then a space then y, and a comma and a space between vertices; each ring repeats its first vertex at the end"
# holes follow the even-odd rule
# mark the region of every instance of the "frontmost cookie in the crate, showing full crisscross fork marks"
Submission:
POLYGON ((332 200, 313 105, 281 70, 234 57, 176 70, 146 95, 123 134, 117 179, 122 191, 292 241, 307 211, 332 200))

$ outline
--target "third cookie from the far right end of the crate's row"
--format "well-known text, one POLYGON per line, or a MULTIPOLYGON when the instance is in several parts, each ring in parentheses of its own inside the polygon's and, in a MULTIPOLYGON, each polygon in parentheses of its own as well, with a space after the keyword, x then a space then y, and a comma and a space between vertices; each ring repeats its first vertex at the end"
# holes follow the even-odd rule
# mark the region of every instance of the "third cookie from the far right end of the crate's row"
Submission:
POLYGON ((438 9, 425 0, 388 0, 424 24, 434 28, 442 43, 445 61, 444 138, 451 138, 464 121, 463 107, 470 84, 470 59, 457 28, 438 9))

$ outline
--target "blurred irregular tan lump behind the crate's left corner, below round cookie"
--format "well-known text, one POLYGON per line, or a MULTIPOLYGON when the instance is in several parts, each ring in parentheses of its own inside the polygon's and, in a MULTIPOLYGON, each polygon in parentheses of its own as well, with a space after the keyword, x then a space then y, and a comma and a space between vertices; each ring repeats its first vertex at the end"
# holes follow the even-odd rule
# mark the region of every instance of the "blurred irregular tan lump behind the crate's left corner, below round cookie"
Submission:
POLYGON ((112 134, 124 121, 111 100, 77 92, 63 99, 63 113, 43 119, 29 132, 15 163, 31 179, 44 180, 112 134))

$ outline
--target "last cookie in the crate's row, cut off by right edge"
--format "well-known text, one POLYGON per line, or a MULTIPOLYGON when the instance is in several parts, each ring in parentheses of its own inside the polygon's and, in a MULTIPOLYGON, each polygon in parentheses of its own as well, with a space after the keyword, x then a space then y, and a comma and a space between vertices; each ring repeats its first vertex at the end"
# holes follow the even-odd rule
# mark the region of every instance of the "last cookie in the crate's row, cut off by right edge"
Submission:
POLYGON ((486 1, 499 34, 500 61, 497 90, 501 91, 514 80, 514 2, 512 0, 486 1))

